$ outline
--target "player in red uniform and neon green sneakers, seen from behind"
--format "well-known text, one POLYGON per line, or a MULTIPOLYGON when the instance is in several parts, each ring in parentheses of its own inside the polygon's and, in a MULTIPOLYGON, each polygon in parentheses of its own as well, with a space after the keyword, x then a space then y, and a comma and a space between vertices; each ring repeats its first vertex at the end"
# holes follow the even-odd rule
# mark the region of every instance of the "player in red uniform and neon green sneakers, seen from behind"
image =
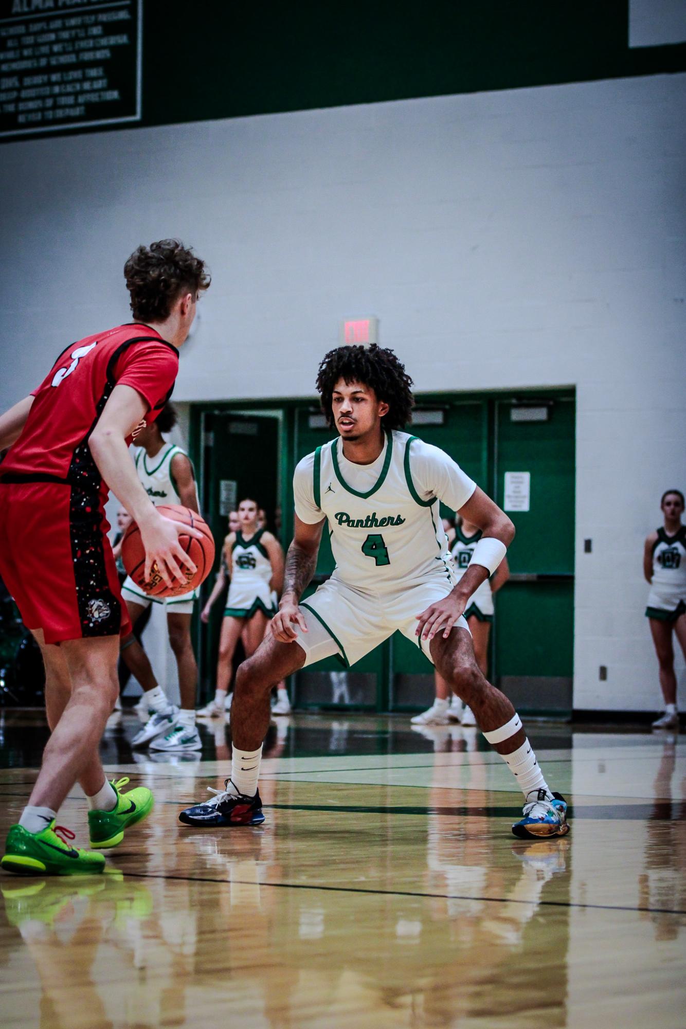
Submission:
POLYGON ((202 290, 204 262, 176 240, 139 247, 124 265, 135 321, 67 347, 41 385, 0 416, 0 575, 46 663, 52 735, 2 866, 23 874, 102 872, 102 854, 55 830, 74 783, 88 797, 91 845, 112 847, 152 795, 109 783, 98 745, 116 696, 119 636, 131 631, 107 538, 111 489, 141 530, 145 575, 168 586, 194 570, 178 541, 196 530, 157 512, 129 454, 169 400, 202 290), (67 838, 67 839, 65 839, 67 838))

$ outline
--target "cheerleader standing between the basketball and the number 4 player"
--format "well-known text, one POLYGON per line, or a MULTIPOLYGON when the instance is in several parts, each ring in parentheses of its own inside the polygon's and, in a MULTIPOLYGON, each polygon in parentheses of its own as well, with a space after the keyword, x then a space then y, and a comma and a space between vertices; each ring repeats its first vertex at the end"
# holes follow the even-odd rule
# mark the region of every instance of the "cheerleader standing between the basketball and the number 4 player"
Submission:
MULTIPOLYGON (((224 714, 236 645, 239 639, 243 641, 247 658, 255 652, 264 639, 269 618, 277 613, 275 597, 281 593, 284 582, 284 552, 277 537, 264 529, 264 518, 260 526, 257 502, 249 498, 242 500, 238 513, 240 528, 229 532, 224 539, 221 569, 202 614, 207 622, 212 605, 224 588, 226 568, 230 584, 219 637, 217 687, 214 700, 197 712, 206 718, 219 718, 224 714)), ((288 714, 289 711, 286 685, 280 682, 273 713, 288 714)))

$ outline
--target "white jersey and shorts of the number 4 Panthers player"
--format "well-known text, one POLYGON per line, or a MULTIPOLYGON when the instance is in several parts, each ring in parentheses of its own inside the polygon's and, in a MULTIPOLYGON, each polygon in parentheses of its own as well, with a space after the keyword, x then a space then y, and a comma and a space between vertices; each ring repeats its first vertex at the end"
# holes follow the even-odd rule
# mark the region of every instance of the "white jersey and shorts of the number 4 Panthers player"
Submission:
POLYGON ((457 582, 439 501, 458 510, 475 489, 447 454, 406 432, 387 433, 371 464, 348 461, 340 439, 299 462, 295 512, 310 525, 327 519, 336 562, 331 578, 300 603, 305 665, 335 653, 354 665, 396 630, 430 659, 417 615, 457 582))

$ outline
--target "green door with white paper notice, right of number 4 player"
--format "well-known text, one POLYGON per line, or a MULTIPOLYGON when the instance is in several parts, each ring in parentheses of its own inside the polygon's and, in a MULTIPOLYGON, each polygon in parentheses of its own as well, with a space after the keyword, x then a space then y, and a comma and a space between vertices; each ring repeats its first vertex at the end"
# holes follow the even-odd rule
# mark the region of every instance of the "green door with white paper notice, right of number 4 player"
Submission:
POLYGON ((566 716, 574 645, 575 402, 569 396, 495 406, 496 500, 516 528, 511 578, 496 599, 496 681, 517 709, 566 716), (528 504, 507 472, 529 472, 528 504))

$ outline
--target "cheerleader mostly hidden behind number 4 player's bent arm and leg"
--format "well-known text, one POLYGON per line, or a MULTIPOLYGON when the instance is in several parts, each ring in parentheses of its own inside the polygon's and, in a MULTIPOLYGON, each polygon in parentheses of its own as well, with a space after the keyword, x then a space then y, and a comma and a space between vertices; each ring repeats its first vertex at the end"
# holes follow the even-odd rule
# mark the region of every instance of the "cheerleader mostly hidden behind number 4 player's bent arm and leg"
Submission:
MULTIPOLYGON (((446 532, 450 554, 455 561, 455 572, 458 578, 467 571, 469 563, 474 556, 476 544, 481 538, 481 530, 460 519, 455 529, 446 532)), ((489 637, 491 635, 491 625, 495 614, 493 595, 503 587, 510 577, 510 570, 507 558, 503 558, 493 575, 493 578, 481 582, 476 592, 469 598, 469 602, 464 612, 469 631, 472 634, 472 646, 474 647, 474 658, 483 675, 489 672, 489 637)), ((410 721, 414 725, 448 725, 452 721, 460 721, 465 726, 475 725, 476 718, 469 706, 463 707, 460 698, 453 694, 442 678, 440 672, 436 672, 436 698, 427 711, 414 715, 410 721), (448 703, 449 702, 449 703, 448 703)))

